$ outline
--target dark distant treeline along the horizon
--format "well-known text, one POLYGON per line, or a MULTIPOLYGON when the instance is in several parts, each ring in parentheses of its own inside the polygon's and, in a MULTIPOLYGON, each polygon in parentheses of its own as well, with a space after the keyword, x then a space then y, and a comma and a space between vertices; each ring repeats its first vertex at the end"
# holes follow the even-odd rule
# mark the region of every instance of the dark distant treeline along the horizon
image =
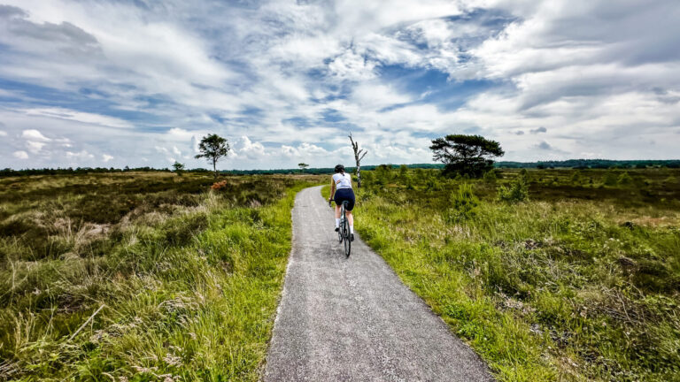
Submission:
MULTIPOLYGON (((399 164, 381 164, 398 168, 399 164)), ((608 169, 608 168, 647 168, 647 167, 668 167, 680 168, 680 160, 607 160, 607 159, 569 159, 565 161, 542 161, 542 162, 498 162, 494 164, 498 168, 576 168, 576 169, 608 169)), ((362 170, 375 170, 377 165, 361 166, 362 170)), ((444 164, 406 164, 408 168, 421 169, 442 169, 444 164)), ((105 167, 67 167, 67 168, 43 168, 43 169, 26 169, 26 170, 12 170, 6 168, 0 170, 0 177, 11 176, 25 176, 25 175, 73 175, 73 174, 87 174, 87 173, 107 173, 107 172, 170 172, 168 168, 153 168, 153 167, 125 167, 119 168, 105 168, 105 167)), ((184 170, 184 172, 211 172, 205 168, 195 168, 184 170)), ((306 174, 326 174, 333 172, 333 167, 317 167, 300 169, 274 169, 274 170, 228 170, 221 171, 222 174, 233 175, 257 175, 257 174, 290 174, 290 173, 306 173, 306 174)), ((354 172, 354 167, 347 167, 347 172, 354 172)))

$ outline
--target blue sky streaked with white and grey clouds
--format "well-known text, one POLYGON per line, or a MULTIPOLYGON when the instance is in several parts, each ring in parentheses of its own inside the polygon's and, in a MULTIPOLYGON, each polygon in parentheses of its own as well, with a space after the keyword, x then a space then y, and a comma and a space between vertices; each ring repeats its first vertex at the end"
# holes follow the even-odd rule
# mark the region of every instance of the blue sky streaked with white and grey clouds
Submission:
POLYGON ((0 168, 680 158, 677 0, 0 0, 0 168))

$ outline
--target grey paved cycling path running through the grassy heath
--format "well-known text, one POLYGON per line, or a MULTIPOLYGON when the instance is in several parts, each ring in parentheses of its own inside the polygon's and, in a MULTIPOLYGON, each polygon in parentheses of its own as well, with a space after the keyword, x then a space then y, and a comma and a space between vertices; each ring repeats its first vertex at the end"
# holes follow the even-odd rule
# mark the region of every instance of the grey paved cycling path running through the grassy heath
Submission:
POLYGON ((293 248, 265 381, 492 380, 359 237, 345 259, 320 187, 301 191, 292 214, 293 248))

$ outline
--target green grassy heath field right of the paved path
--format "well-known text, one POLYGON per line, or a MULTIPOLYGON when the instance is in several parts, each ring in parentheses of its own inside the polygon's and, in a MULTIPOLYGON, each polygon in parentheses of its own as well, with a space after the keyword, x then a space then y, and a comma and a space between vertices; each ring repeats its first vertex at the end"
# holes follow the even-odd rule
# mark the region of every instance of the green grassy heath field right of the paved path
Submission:
POLYGON ((362 239, 499 380, 680 380, 678 170, 362 174, 362 239))

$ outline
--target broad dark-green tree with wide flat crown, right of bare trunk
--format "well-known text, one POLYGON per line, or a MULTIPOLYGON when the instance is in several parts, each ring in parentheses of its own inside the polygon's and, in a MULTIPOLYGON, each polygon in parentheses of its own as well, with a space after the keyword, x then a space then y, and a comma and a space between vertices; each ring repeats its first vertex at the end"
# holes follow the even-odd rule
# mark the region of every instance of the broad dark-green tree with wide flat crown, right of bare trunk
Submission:
POLYGON ((502 157, 505 152, 497 141, 490 141, 481 135, 450 134, 432 140, 429 147, 433 159, 445 164, 444 175, 469 175, 479 178, 493 168, 493 157, 502 157))

